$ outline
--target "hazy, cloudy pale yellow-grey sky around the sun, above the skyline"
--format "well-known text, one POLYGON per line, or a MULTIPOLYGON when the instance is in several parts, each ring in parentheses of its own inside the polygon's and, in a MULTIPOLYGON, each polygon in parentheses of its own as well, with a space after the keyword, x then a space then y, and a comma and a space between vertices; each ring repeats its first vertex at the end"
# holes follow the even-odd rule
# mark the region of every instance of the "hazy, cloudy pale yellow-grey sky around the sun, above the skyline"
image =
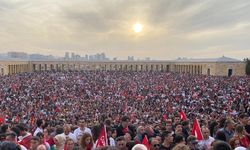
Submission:
POLYGON ((250 57, 250 1, 0 0, 0 52, 8 51, 243 59, 250 57))

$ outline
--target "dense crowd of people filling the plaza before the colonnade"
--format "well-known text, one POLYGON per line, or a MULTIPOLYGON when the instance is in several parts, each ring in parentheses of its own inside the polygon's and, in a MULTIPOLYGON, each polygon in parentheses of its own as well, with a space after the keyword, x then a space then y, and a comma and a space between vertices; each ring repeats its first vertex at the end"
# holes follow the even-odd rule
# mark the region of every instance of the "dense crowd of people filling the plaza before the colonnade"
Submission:
POLYGON ((250 147, 249 76, 67 71, 0 80, 1 150, 250 147), (191 133, 194 119, 202 139, 191 133), (96 147, 103 126, 108 142, 96 147))

